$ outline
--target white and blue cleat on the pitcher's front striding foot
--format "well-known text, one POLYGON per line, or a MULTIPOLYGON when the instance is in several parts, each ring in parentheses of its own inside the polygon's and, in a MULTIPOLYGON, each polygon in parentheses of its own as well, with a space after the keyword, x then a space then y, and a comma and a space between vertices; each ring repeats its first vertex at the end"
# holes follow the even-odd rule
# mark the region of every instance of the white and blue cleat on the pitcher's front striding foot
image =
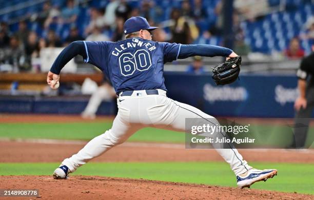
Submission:
POLYGON ((245 173, 237 176, 237 185, 239 188, 250 188, 250 186, 258 181, 266 181, 268 178, 272 178, 277 175, 277 169, 254 169, 251 168, 245 173))

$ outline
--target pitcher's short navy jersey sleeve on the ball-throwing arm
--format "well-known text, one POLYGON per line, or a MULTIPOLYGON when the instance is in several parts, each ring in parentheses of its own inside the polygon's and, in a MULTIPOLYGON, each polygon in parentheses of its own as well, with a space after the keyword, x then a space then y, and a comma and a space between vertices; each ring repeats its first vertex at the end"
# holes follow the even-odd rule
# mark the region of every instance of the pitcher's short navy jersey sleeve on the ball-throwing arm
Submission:
POLYGON ((111 42, 83 42, 86 51, 86 57, 84 57, 84 62, 90 63, 103 71, 105 69, 105 61, 108 58, 108 49, 111 42))

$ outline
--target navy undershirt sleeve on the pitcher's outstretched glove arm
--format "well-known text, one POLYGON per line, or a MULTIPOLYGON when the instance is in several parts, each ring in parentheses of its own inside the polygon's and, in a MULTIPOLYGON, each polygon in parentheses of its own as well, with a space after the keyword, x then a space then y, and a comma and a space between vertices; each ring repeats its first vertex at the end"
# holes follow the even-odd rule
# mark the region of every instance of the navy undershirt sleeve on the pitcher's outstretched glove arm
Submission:
POLYGON ((214 45, 181 45, 178 58, 183 59, 195 55, 236 57, 231 49, 214 45))

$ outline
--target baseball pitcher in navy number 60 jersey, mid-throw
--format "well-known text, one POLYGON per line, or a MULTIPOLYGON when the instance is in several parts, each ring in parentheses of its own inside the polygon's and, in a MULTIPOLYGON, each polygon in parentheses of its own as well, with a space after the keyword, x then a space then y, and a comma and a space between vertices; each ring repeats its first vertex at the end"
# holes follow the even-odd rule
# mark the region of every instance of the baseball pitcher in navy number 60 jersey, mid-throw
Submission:
MULTIPOLYGON (((156 28, 158 27, 149 26, 143 17, 131 17, 124 24, 126 39, 123 41, 76 41, 67 46, 55 59, 47 77, 50 87, 54 87, 59 81, 58 74, 67 62, 76 55, 82 55, 86 63, 98 67, 105 73, 119 96, 117 98, 119 111, 111 129, 93 138, 78 153, 66 158, 54 171, 55 178, 67 178, 69 173, 90 159, 122 144, 143 127, 185 131, 186 118, 203 118, 211 124, 218 124, 217 119, 201 110, 167 97, 163 77, 164 64, 195 55, 226 56, 230 60, 236 58, 240 63, 241 57, 239 59, 232 50, 219 46, 154 42, 151 40, 151 31, 156 28)), ((231 66, 235 67, 234 64, 231 66)), ((226 77, 227 73, 216 74, 213 78, 217 84, 223 85, 225 79, 226 83, 230 83, 230 79, 226 77)), ((237 78, 238 74, 239 70, 232 71, 232 79, 237 78)), ((276 169, 257 170, 250 167, 237 149, 232 147, 216 150, 230 164, 241 188, 250 187, 258 181, 266 181, 267 178, 277 174, 276 169)))

